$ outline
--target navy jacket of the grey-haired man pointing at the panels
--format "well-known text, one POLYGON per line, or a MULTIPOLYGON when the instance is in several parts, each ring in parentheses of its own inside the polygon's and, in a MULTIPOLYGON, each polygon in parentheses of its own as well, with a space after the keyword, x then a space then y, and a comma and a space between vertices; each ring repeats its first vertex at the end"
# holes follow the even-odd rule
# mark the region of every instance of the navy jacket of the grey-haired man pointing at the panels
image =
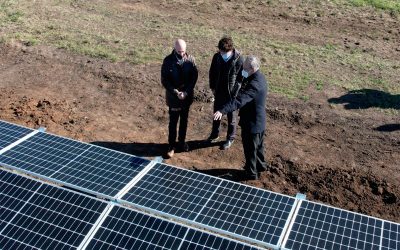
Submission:
POLYGON ((242 83, 238 96, 228 102, 220 110, 226 114, 240 109, 239 125, 250 133, 261 133, 265 130, 265 103, 268 93, 268 83, 265 76, 258 70, 242 83))

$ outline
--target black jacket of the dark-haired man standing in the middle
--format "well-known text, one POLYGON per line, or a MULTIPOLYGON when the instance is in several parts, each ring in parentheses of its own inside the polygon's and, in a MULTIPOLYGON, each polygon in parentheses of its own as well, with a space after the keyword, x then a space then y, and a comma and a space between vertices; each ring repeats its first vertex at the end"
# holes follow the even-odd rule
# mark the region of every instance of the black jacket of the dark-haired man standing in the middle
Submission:
POLYGON ((232 57, 225 62, 221 54, 215 53, 209 71, 210 88, 215 91, 215 103, 221 106, 236 97, 241 82, 243 57, 233 50, 232 57), (238 81, 236 77, 239 75, 238 81))

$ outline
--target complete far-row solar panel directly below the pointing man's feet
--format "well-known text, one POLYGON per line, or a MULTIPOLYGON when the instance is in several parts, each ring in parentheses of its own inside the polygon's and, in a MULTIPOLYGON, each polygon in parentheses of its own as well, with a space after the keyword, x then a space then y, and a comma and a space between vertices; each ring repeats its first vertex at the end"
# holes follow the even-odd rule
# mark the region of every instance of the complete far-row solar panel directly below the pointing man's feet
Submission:
POLYGON ((156 164, 121 202, 274 247, 295 198, 156 164))

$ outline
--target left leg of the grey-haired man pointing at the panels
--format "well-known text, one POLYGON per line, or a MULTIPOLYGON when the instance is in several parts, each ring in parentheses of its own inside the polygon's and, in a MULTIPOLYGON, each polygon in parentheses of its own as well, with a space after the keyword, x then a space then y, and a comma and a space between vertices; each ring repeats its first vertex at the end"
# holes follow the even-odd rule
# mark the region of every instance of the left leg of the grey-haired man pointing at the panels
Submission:
POLYGON ((244 166, 247 173, 252 179, 258 179, 257 171, 257 134, 252 134, 250 131, 242 128, 242 143, 246 165, 244 166))

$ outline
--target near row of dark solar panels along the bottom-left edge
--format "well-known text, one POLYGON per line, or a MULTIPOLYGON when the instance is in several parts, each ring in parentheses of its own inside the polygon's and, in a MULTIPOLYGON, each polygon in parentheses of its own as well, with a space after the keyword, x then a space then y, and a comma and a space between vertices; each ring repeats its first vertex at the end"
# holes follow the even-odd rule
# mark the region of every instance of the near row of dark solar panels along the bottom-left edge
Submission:
POLYGON ((3 170, 0 201, 1 249, 257 249, 3 170))

